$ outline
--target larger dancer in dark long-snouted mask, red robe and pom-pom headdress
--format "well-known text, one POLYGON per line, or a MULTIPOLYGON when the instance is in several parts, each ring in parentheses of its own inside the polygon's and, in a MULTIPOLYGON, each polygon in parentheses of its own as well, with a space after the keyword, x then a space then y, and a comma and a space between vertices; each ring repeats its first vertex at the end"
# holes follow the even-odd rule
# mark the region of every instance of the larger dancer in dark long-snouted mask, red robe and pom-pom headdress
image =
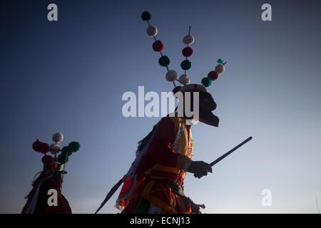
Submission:
POLYGON ((162 53, 163 42, 156 39, 158 29, 149 23, 151 14, 145 11, 141 18, 148 23, 147 34, 154 39, 153 50, 161 53, 158 63, 167 69, 165 78, 175 86, 173 95, 178 98, 180 105, 175 113, 162 118, 151 133, 138 142, 136 160, 128 173, 108 193, 98 210, 123 183, 116 201, 116 208, 121 209, 122 213, 200 213, 200 208, 205 206, 195 204, 183 193, 185 175, 191 172, 200 178, 212 172, 212 168, 206 162, 192 160, 193 137, 190 128, 198 121, 218 127, 219 118, 213 114, 216 103, 207 87, 218 79, 218 74, 225 71, 226 62, 218 59, 215 71, 210 71, 208 77, 201 80, 202 85, 190 84, 186 71, 191 67, 188 57, 193 54, 190 45, 194 42, 194 37, 190 34, 189 27, 188 35, 183 38, 186 47, 182 53, 185 60, 180 64, 184 73, 177 79, 177 72, 168 68, 170 59, 162 53), (175 81, 182 86, 176 86, 175 81), (198 103, 199 115, 188 115, 185 112, 186 103, 190 104, 192 112, 194 103, 198 103))

